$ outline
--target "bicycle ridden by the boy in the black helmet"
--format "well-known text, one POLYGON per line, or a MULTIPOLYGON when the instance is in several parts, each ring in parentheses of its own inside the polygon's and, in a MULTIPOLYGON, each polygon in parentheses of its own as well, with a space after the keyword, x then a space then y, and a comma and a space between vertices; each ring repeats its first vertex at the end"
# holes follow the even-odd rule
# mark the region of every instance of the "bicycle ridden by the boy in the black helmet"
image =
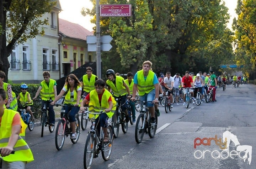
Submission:
POLYGON ((127 133, 128 130, 128 122, 125 121, 125 113, 121 110, 121 107, 119 105, 119 99, 116 99, 117 101, 117 109, 114 112, 114 115, 112 116, 112 126, 113 126, 113 133, 114 133, 114 138, 118 137, 119 134, 119 125, 121 124, 122 126, 122 131, 123 133, 127 133))

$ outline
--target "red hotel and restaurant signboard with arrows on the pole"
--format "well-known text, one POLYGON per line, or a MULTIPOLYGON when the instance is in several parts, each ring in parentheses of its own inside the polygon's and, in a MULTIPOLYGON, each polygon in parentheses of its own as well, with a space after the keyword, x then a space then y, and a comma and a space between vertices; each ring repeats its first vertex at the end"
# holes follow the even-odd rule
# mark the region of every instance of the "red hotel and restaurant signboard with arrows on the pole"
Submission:
POLYGON ((131 16, 131 4, 124 5, 100 5, 100 16, 131 16))

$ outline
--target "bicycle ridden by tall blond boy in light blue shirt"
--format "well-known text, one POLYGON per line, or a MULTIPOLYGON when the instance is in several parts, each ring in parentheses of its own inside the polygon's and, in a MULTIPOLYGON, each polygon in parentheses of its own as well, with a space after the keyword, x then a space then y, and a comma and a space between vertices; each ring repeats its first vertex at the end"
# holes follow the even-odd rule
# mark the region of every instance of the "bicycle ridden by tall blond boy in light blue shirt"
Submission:
POLYGON ((155 119, 156 123, 151 125, 150 118, 151 115, 149 113, 149 109, 146 106, 146 103, 152 103, 152 101, 143 101, 142 110, 140 111, 140 115, 137 119, 136 126, 135 126, 135 140, 137 143, 142 142, 144 133, 148 133, 150 138, 153 138, 156 133, 156 128, 158 124, 158 117, 155 112, 155 119), (148 129, 148 132, 146 131, 148 129))

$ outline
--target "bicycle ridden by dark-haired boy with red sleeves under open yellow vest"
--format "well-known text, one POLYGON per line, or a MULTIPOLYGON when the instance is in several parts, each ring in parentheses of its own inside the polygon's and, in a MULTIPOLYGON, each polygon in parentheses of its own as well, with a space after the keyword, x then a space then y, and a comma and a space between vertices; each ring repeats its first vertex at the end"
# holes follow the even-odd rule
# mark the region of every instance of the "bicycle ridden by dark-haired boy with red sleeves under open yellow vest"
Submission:
POLYGON ((109 119, 108 121, 109 123, 107 127, 109 141, 104 142, 103 130, 101 130, 101 135, 100 135, 99 131, 97 130, 98 123, 96 124, 95 121, 96 121, 96 115, 100 116, 102 113, 105 113, 105 111, 100 111, 98 113, 91 113, 91 112, 87 112, 87 113, 94 115, 94 117, 89 119, 89 121, 92 122, 92 127, 88 132, 87 139, 85 142, 85 148, 84 148, 84 168, 90 169, 93 158, 97 158, 100 152, 102 154, 102 158, 105 161, 107 161, 110 158, 110 155, 112 152, 113 132, 112 132, 112 125, 111 125, 112 122, 109 119))

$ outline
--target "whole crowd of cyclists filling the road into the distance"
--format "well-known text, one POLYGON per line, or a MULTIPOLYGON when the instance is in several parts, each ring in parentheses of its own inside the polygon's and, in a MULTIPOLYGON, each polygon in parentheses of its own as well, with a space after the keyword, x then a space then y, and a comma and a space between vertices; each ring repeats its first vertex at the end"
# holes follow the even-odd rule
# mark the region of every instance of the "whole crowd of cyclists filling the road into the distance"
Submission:
POLYGON ((116 99, 118 99, 119 105, 121 105, 121 110, 125 113, 126 122, 129 121, 126 101, 127 99, 130 100, 129 105, 132 111, 132 121, 135 122, 134 101, 139 96, 140 101, 146 102, 146 106, 151 115, 150 123, 154 125, 156 123, 155 111, 157 112, 157 116, 160 116, 158 109, 159 95, 162 94, 165 96, 165 91, 167 90, 169 91, 168 95, 171 96, 171 108, 173 108, 174 101, 178 106, 179 102, 183 100, 183 106, 185 105, 187 88, 192 96, 193 104, 195 104, 194 96, 197 92, 202 94, 202 100, 205 101, 203 92, 205 86, 213 88, 212 101, 216 102, 215 91, 217 86, 221 87, 224 85, 225 87, 225 85, 242 84, 248 81, 247 77, 237 77, 236 75, 229 77, 222 74, 217 77, 213 70, 210 70, 209 73, 199 71, 197 74, 186 71, 184 76, 181 76, 180 73, 171 76, 170 72, 166 72, 166 74, 160 73, 158 78, 151 66, 152 63, 149 60, 145 61, 142 65, 142 69, 137 71, 134 76, 132 72, 128 72, 126 80, 116 74, 113 69, 108 69, 106 71, 106 82, 102 79, 98 79, 96 75, 92 74, 92 68, 87 67, 86 74, 82 77, 81 82, 74 74, 68 75, 62 91, 58 95, 56 81, 50 78, 48 71, 44 71, 44 80, 40 83, 32 99, 30 93, 27 91, 27 84, 20 86, 21 92, 16 98, 15 93, 11 89, 11 85, 4 82, 4 72, 0 71, 0 155, 2 166, 6 166, 6 168, 22 166, 21 168, 25 168, 26 163, 33 161, 32 152, 23 139, 26 125, 17 112, 17 101, 20 101, 21 104, 24 105, 26 111, 29 112, 33 118, 31 106, 33 105, 33 100, 40 94, 42 105, 45 104, 49 112, 49 125, 54 126, 55 112, 53 106, 65 95, 63 104, 67 106, 64 106, 62 109, 65 110, 65 114, 69 113, 69 122, 72 131, 71 139, 76 139, 77 137, 75 133, 75 115, 78 111, 84 111, 85 106, 89 107, 90 112, 105 110, 106 113, 101 115, 97 120, 104 132, 104 141, 107 142, 109 138, 107 136, 106 127, 108 126, 108 119, 111 119, 115 113, 116 99), (176 98, 172 97, 174 92, 176 98), (81 99, 82 96, 84 99, 81 99), (20 146, 23 148, 18 148, 20 146), (13 151, 15 151, 14 154, 12 154, 13 151))

